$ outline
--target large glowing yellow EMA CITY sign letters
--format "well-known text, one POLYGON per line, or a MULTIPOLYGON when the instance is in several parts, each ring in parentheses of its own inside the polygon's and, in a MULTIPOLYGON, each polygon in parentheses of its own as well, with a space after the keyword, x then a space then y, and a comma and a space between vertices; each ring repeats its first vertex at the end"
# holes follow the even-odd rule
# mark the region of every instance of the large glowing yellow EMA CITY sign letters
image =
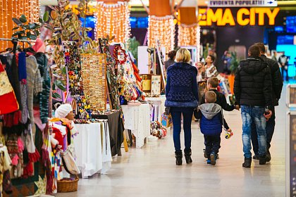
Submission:
POLYGON ((274 25, 276 15, 280 8, 240 8, 236 15, 233 15, 230 8, 217 8, 213 11, 211 8, 199 8, 199 25, 211 26, 216 23, 217 26, 224 25, 274 25), (265 18, 269 19, 269 23, 265 24, 265 18), (236 18, 236 20, 235 20, 236 18))

